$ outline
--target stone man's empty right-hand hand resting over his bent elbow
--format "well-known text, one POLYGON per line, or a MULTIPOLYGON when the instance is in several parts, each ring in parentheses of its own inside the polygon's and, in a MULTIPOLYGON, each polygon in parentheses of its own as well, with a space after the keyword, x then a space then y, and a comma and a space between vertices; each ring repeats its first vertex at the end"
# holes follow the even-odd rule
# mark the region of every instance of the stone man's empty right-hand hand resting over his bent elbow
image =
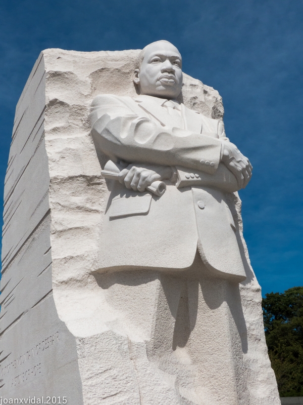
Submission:
POLYGON ((238 186, 245 188, 251 178, 252 166, 250 161, 242 155, 239 149, 231 142, 223 142, 222 162, 236 177, 238 186))

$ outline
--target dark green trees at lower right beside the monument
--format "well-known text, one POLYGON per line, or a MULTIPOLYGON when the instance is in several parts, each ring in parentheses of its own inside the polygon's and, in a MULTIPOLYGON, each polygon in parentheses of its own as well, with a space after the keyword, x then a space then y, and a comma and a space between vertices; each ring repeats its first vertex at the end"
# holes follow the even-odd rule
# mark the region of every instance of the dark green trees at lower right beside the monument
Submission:
POLYGON ((280 396, 303 396, 303 287, 266 294, 262 307, 280 396))

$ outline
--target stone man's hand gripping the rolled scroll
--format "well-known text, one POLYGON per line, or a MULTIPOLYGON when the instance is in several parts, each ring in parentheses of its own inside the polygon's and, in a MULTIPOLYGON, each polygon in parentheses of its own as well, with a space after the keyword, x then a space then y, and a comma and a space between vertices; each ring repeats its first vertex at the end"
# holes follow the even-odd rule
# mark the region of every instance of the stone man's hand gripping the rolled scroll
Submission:
POLYGON ((124 182, 126 188, 142 192, 154 181, 170 179, 171 177, 172 169, 170 166, 133 164, 120 172, 119 181, 121 184, 124 182))

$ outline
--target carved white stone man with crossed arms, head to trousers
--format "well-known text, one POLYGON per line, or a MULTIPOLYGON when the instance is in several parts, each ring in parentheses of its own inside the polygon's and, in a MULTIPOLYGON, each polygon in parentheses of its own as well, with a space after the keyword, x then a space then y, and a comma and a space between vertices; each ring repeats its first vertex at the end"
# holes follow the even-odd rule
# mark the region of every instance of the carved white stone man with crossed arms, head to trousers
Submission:
MULTIPOLYGON (((134 70, 138 95, 103 94, 92 102, 96 150, 118 168, 118 181, 108 182, 98 272, 126 271, 130 284, 142 277, 161 281, 163 302, 158 290, 141 297, 150 307, 151 300, 160 300, 161 318, 154 331, 146 321, 139 327, 154 368, 148 378, 158 387, 155 392, 149 387, 149 394, 142 388, 146 403, 246 403, 233 319, 241 308, 224 305, 234 301, 237 283, 245 280, 225 193, 244 188, 252 168, 226 138, 222 123, 184 106, 181 68, 172 44, 150 44, 134 70), (162 195, 147 190, 155 181, 165 182, 162 195)), ((123 306, 123 294, 119 300, 123 306)), ((125 329, 135 329, 140 317, 140 299, 133 300, 125 329)), ((142 383, 144 373, 138 366, 142 383)))

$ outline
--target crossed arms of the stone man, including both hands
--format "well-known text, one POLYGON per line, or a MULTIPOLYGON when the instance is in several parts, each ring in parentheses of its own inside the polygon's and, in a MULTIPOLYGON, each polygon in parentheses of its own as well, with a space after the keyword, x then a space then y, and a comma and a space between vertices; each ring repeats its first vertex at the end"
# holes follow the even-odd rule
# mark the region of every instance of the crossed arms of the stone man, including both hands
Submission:
POLYGON ((136 162, 119 176, 119 181, 129 189, 144 191, 155 180, 170 179, 172 167, 176 166, 214 175, 220 161, 220 166, 224 164, 235 176, 239 189, 250 180, 249 160, 234 144, 204 134, 163 127, 139 116, 119 97, 96 97, 91 123, 97 149, 111 158, 136 162), (210 165, 201 163, 207 160, 210 165))

